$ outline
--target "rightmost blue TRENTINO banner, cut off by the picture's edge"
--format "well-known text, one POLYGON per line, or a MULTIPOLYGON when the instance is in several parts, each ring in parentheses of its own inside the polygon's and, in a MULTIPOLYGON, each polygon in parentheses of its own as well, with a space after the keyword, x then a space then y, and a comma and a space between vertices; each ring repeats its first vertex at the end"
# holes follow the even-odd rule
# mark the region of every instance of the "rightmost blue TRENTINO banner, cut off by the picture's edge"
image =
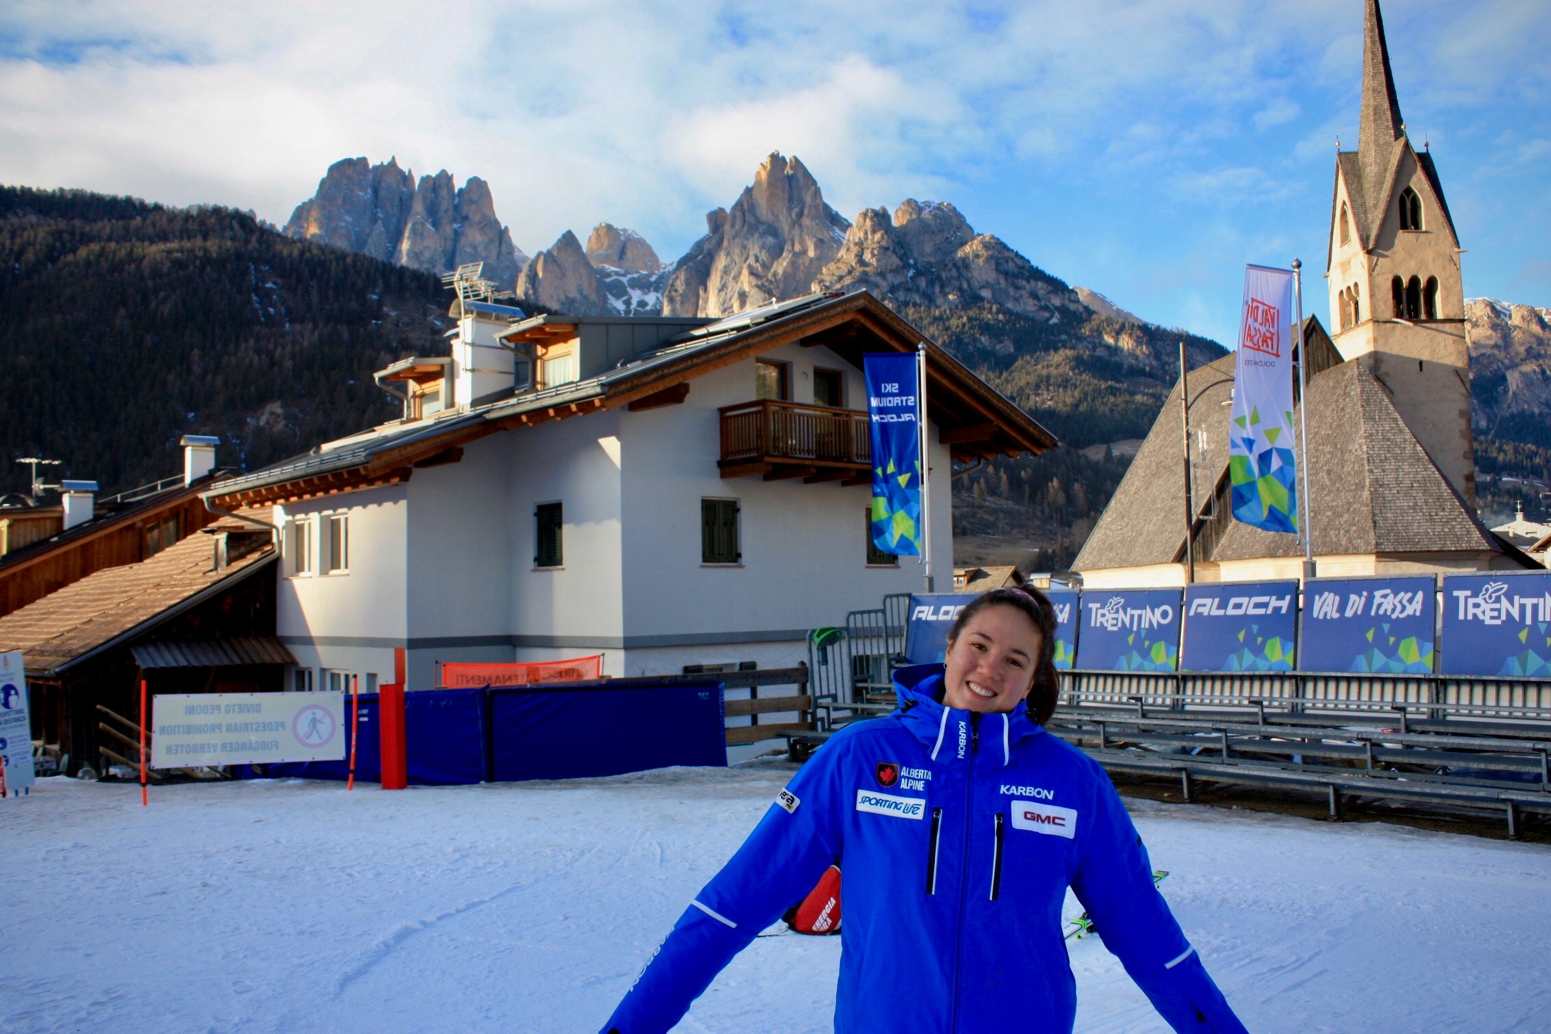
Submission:
POLYGON ((1551 677, 1551 572, 1444 578, 1442 671, 1551 677))

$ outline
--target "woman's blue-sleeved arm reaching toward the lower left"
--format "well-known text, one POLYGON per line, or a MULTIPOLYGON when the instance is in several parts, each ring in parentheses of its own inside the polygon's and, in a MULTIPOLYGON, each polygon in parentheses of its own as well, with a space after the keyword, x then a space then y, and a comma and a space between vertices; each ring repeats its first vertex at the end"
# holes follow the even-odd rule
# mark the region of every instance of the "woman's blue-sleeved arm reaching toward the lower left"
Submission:
POLYGON ((732 860, 695 894, 605 1034, 665 1034, 732 956, 839 860, 844 812, 831 764, 839 747, 831 741, 808 760, 732 860))

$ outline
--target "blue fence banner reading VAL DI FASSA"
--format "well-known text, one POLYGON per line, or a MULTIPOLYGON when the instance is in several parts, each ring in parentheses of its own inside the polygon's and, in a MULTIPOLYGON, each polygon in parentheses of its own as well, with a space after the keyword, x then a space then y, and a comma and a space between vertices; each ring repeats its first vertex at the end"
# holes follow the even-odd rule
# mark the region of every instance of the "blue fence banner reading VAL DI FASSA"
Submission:
POLYGON ((1314 578, 1304 591, 1304 671, 1433 670, 1436 586, 1416 578, 1314 578))

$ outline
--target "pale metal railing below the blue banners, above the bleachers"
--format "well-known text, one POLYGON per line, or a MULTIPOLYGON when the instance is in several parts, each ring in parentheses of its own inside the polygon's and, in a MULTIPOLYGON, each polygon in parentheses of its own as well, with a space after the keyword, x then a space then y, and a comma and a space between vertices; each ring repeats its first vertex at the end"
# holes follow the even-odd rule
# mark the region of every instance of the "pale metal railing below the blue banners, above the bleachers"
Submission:
POLYGON ((1551 679, 1331 671, 1062 671, 1061 701, 1551 721, 1551 679))

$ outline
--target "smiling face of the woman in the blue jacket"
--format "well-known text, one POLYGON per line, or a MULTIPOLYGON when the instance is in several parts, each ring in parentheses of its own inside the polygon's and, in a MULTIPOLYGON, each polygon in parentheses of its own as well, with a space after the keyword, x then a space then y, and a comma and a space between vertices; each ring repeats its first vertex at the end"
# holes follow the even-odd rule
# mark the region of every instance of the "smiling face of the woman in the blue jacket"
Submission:
POLYGON ((968 712, 1010 712, 1028 696, 1039 628, 1016 606, 977 611, 948 643, 943 702, 968 712))

